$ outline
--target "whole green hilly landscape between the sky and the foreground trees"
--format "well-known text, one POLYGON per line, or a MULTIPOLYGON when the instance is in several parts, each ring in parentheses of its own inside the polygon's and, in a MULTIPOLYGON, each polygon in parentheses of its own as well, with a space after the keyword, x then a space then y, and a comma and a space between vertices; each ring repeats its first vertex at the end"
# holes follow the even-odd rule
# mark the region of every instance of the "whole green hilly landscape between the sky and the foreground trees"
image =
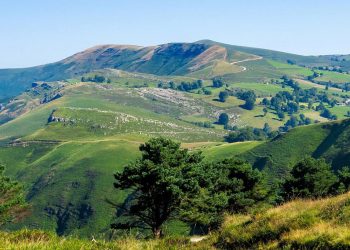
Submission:
MULTIPOLYGON (((154 137, 202 151, 205 162, 246 160, 269 185, 304 156, 340 169, 349 160, 349 74, 319 67, 350 69, 333 62, 199 41, 103 45, 53 64, 0 70, 7 98, 0 109, 0 163, 23 183, 32 209, 8 229, 105 237, 118 216, 106 200, 122 203, 130 195, 114 189, 113 174, 154 137), (280 98, 277 106, 273 98, 280 98)), ((167 223, 170 235, 191 230, 167 223)))

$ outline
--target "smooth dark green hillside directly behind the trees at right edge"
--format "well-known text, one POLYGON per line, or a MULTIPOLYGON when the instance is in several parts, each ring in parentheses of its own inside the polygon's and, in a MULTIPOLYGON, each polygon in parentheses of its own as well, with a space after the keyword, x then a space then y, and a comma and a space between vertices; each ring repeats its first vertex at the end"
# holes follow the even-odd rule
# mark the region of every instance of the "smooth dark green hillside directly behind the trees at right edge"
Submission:
POLYGON ((339 168, 350 160, 349 136, 350 120, 309 125, 292 129, 241 156, 265 169, 270 178, 285 176, 306 155, 325 157, 334 168, 339 168))

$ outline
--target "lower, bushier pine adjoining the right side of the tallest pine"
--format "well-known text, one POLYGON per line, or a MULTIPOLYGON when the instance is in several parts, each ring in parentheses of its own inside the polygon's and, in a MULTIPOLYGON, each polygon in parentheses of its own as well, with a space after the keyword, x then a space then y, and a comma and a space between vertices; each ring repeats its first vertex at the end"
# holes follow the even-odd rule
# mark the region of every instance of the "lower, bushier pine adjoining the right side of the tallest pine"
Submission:
POLYGON ((239 159, 208 163, 197 173, 201 192, 187 202, 182 216, 209 230, 220 225, 224 212, 247 212, 267 197, 261 173, 239 159))

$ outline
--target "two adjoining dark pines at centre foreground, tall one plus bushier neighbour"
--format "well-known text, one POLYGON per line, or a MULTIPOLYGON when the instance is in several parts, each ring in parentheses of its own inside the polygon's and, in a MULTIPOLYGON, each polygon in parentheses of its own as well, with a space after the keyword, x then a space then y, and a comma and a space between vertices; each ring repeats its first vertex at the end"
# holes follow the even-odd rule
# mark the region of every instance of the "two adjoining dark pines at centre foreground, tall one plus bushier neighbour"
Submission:
POLYGON ((114 186, 132 193, 113 228, 148 228, 158 238, 176 218, 210 230, 225 211, 247 211, 268 196, 261 173, 241 160, 206 163, 199 152, 165 138, 150 139, 140 151, 140 159, 114 175, 114 186))

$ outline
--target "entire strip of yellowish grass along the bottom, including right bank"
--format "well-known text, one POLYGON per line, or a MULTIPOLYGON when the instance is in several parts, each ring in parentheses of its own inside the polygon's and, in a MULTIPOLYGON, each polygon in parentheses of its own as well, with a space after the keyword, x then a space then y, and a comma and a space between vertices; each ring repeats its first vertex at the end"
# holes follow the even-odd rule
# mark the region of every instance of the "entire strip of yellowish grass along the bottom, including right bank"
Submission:
POLYGON ((229 215, 199 243, 188 237, 161 240, 85 240, 43 231, 0 233, 2 249, 348 249, 350 193, 295 200, 254 215, 229 215))

